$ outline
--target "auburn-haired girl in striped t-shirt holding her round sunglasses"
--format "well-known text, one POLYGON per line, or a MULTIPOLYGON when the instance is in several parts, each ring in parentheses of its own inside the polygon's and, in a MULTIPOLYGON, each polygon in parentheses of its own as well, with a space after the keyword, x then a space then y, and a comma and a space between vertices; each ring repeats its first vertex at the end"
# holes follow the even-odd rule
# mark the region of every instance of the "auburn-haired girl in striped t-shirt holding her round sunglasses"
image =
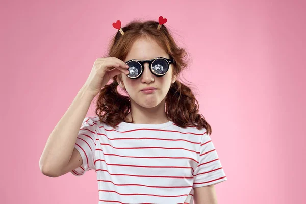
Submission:
POLYGON ((113 24, 108 56, 94 62, 48 138, 44 175, 95 170, 99 203, 217 203, 214 185, 227 178, 211 126, 177 79, 186 52, 165 22, 113 24), (95 96, 97 116, 85 118, 95 96))

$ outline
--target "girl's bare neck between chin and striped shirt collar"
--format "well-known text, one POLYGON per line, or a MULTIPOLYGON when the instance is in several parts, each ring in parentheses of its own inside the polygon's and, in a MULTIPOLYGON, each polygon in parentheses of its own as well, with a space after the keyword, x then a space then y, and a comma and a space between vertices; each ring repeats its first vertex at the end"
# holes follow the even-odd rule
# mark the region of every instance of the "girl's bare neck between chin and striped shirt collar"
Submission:
POLYGON ((131 100, 131 112, 127 114, 128 121, 133 120, 136 124, 162 124, 168 122, 168 118, 165 112, 165 103, 164 99, 159 105, 152 108, 145 108, 136 104, 131 100))

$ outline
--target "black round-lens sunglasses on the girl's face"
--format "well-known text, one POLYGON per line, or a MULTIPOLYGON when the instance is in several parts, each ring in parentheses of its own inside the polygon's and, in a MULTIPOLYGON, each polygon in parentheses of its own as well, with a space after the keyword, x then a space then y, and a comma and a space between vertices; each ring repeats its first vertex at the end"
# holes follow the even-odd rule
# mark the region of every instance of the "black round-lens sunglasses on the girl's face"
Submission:
POLYGON ((127 77, 131 79, 137 79, 141 76, 144 69, 144 63, 148 62, 150 71, 152 74, 156 75, 157 77, 162 77, 165 75, 170 68, 170 64, 174 64, 174 59, 167 59, 164 57, 157 57, 148 60, 129 60, 125 63, 129 65, 129 74, 127 77))

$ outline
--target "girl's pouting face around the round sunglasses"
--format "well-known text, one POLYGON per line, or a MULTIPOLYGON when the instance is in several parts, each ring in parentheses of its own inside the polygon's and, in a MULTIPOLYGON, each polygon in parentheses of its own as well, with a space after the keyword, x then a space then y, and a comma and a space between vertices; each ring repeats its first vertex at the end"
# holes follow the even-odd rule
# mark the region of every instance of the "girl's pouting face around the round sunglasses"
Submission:
MULTIPOLYGON (((144 60, 156 57, 169 58, 169 55, 154 40, 142 38, 134 42, 131 50, 127 54, 124 62, 131 59, 144 60)), ((142 75, 137 79, 130 79, 124 73, 118 78, 119 86, 129 94, 131 102, 134 101, 144 108, 152 108, 159 105, 166 97, 170 85, 175 82, 176 78, 172 76, 172 67, 163 77, 157 77, 152 74, 148 63, 144 63, 142 75), (144 88, 154 87, 152 92, 141 91, 144 88)))

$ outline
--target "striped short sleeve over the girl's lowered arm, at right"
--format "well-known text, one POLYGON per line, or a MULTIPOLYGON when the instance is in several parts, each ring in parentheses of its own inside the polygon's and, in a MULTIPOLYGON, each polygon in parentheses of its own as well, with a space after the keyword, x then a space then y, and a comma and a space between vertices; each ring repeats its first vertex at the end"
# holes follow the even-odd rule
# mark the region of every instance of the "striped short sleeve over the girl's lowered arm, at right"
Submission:
POLYGON ((207 133, 202 135, 199 164, 193 175, 193 188, 218 184, 227 180, 215 146, 207 133))

